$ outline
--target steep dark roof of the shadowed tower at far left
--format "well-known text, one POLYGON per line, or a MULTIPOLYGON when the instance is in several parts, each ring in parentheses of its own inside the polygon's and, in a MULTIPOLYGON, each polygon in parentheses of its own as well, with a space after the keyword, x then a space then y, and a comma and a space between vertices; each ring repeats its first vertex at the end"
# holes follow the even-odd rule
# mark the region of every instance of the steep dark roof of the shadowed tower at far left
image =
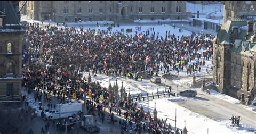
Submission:
POLYGON ((21 29, 20 20, 11 1, 0 1, 0 14, 6 14, 6 29, 21 29))

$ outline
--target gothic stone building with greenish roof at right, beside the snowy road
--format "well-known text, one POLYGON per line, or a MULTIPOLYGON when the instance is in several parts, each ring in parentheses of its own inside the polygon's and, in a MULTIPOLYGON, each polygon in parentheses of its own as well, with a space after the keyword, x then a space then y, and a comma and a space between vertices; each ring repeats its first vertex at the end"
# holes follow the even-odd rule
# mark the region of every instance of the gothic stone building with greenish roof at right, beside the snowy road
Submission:
POLYGON ((220 93, 251 101, 256 88, 256 23, 228 20, 213 45, 213 82, 220 93))

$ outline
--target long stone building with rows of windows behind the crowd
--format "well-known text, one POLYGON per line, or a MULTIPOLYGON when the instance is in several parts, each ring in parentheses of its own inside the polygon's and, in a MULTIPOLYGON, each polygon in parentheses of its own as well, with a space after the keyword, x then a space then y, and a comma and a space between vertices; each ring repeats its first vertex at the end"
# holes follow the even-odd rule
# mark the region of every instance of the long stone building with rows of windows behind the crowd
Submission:
MULTIPOLYGON (((20 1, 20 7, 25 1, 20 1)), ((185 19, 186 1, 27 1, 22 14, 55 22, 185 19)))

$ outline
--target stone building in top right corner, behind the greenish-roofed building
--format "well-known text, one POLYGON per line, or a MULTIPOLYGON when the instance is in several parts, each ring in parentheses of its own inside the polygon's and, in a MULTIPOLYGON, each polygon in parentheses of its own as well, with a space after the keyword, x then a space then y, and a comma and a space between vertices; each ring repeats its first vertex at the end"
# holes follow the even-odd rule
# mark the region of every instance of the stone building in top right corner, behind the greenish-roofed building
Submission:
POLYGON ((223 23, 228 20, 255 20, 256 1, 224 1, 223 23))

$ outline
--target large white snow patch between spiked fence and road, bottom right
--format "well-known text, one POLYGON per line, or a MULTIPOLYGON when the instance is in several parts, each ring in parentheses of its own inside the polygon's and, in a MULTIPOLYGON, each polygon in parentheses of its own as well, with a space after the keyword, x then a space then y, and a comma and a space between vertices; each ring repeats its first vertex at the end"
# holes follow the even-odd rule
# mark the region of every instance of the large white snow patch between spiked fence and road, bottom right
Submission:
MULTIPOLYGON (((237 129, 236 127, 231 127, 231 121, 214 121, 198 113, 191 112, 184 107, 181 107, 175 103, 168 101, 169 98, 157 99, 154 101, 149 101, 149 111, 153 112, 154 103, 156 102, 156 110, 158 111, 157 117, 160 119, 167 118, 167 124, 175 125, 175 109, 177 109, 177 127, 183 129, 184 121, 186 120, 186 128, 188 133, 253 133, 250 130, 253 128, 244 126, 237 129), (169 107, 169 108, 166 108, 169 107)), ((147 110, 147 102, 139 102, 145 110, 147 110)))

